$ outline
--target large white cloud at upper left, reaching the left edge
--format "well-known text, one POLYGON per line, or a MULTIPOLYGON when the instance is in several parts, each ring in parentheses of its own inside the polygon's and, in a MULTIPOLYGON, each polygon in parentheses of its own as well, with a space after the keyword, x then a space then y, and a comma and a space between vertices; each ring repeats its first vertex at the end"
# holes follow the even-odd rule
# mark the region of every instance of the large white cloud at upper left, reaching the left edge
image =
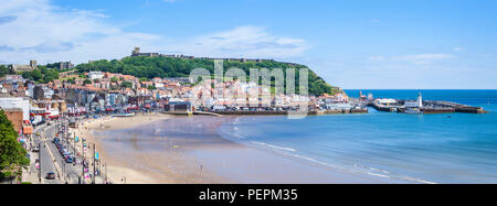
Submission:
POLYGON ((0 8, 0 62, 27 63, 121 57, 135 44, 156 43, 161 36, 127 33, 103 22, 97 11, 63 9, 47 0, 7 0, 0 8))

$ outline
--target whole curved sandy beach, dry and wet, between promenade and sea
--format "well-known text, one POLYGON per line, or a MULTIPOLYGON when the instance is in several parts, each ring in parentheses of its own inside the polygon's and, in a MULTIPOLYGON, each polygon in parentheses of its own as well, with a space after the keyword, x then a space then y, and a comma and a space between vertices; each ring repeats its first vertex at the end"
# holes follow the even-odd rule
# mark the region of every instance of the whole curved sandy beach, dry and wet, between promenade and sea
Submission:
POLYGON ((108 174, 119 183, 297 184, 399 183, 313 165, 233 142, 218 128, 236 117, 137 116, 92 120, 82 137, 96 141, 108 174))

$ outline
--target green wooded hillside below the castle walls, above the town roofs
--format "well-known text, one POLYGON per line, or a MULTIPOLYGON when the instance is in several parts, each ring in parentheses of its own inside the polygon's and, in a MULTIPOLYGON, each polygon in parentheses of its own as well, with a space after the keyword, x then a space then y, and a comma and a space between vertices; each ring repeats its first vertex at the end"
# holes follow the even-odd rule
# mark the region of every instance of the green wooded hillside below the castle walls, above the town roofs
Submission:
MULTIPOLYGON (((235 62, 235 61, 224 61, 224 71, 229 68, 242 68, 245 71, 247 76, 250 76, 250 68, 305 68, 305 65, 290 65, 287 63, 279 62, 235 62)), ((102 59, 96 62, 91 62, 87 64, 80 64, 76 66, 78 72, 89 72, 89 71, 102 71, 109 73, 121 73, 125 75, 133 75, 136 77, 188 77, 190 72, 194 68, 205 68, 214 74, 214 61, 211 59, 186 59, 186 58, 173 58, 173 57, 144 57, 144 56, 129 56, 123 59, 102 59)), ((296 71, 296 84, 298 84, 298 71, 296 71)), ((298 85, 296 87, 298 90, 298 85)), ((316 73, 309 69, 309 94, 310 95, 322 95, 330 94, 334 95, 340 93, 338 87, 332 87, 327 84, 321 77, 317 76, 316 73)))

